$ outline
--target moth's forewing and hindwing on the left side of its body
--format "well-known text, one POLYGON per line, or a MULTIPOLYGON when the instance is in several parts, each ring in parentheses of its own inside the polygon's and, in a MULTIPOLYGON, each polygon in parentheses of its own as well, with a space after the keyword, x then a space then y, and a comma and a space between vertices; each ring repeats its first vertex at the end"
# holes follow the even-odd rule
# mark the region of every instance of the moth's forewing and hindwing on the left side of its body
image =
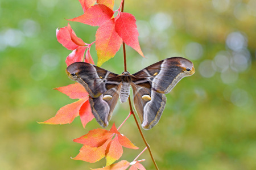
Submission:
POLYGON ((76 80, 89 94, 89 103, 93 116, 102 127, 108 126, 119 97, 121 78, 108 70, 85 62, 69 65, 66 72, 76 80))

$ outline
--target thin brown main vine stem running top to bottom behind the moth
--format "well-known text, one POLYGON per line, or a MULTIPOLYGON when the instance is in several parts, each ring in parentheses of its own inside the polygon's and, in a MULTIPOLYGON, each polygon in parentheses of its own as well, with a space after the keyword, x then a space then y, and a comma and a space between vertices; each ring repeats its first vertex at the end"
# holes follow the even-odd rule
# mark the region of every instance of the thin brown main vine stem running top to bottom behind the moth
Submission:
MULTIPOLYGON (((123 12, 124 6, 125 6, 125 0, 122 0, 122 9, 121 9, 121 12, 123 12)), ((125 42, 123 42, 123 63, 124 63, 124 70, 127 71, 127 67, 126 67, 125 42)), ((153 162, 154 165, 155 165, 155 169, 156 169, 156 170, 159 170, 159 169, 158 169, 158 165, 156 164, 155 159, 154 159, 154 157, 153 157, 153 155, 152 155, 150 146, 148 145, 146 139, 144 138, 144 135, 143 135, 143 133, 142 133, 141 127, 139 126, 138 120, 137 120, 137 118, 136 118, 136 116, 135 116, 135 114, 134 114, 133 107, 131 107, 131 98, 130 98, 130 96, 128 97, 128 100, 129 100, 129 106, 130 106, 130 114, 133 114, 134 120, 135 120, 136 125, 137 125, 137 127, 138 127, 138 129, 139 129, 139 133, 141 134, 141 137, 142 137, 142 139, 143 139, 143 141, 144 141, 144 143, 145 143, 145 145, 146 145, 148 151, 150 152, 150 156, 151 156, 152 162, 153 162)))

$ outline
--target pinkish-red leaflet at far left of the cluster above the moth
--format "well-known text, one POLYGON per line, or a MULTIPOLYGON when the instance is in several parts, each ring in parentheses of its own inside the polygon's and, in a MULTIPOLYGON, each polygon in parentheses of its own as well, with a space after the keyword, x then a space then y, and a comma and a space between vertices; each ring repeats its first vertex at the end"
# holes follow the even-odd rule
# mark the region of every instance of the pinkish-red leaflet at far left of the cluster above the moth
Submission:
POLYGON ((57 37, 57 40, 60 42, 60 44, 62 44, 68 50, 75 50, 79 48, 79 45, 75 44, 75 42, 71 40, 68 27, 63 27, 60 29, 57 28, 56 37, 57 37))

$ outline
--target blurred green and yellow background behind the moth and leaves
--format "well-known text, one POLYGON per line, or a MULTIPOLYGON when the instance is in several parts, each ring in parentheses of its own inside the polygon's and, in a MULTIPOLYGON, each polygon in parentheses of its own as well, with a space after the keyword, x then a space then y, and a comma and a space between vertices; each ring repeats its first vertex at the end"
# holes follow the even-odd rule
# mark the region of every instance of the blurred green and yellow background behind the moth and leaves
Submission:
MULTIPOLYGON (((117 9, 121 1, 115 2, 117 9)), ((137 19, 139 41, 147 58, 127 47, 130 73, 161 59, 182 56, 196 73, 170 94, 158 125, 143 131, 160 169, 256 169, 256 1, 135 1, 125 11, 137 19)), ((85 129, 79 117, 70 125, 42 125, 59 108, 72 103, 52 88, 72 82, 65 74, 71 51, 56 40, 55 30, 82 14, 79 1, 0 1, 0 169, 89 169, 72 160, 81 145, 73 138, 85 129)), ((85 42, 97 27, 71 23, 85 42)), ((97 61, 95 46, 91 49, 97 61)), ((122 50, 102 65, 122 73, 122 50)), ((110 127, 129 113, 115 108, 110 127)), ((109 127, 108 127, 109 129, 109 127)), ((133 118, 121 128, 139 150, 123 148, 120 160, 132 161, 144 148, 133 118)), ((148 152, 139 159, 154 169, 148 152)))

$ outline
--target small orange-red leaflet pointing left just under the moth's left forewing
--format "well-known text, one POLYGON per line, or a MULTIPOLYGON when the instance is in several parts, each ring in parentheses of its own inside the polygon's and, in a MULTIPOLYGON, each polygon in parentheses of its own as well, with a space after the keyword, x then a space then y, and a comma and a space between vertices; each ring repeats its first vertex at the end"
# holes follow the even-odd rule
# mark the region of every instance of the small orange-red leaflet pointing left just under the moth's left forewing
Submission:
POLYGON ((61 93, 69 96, 71 99, 82 99, 88 96, 88 92, 85 91, 84 86, 82 86, 80 83, 69 84, 68 86, 56 87, 53 89, 60 91, 61 93))

